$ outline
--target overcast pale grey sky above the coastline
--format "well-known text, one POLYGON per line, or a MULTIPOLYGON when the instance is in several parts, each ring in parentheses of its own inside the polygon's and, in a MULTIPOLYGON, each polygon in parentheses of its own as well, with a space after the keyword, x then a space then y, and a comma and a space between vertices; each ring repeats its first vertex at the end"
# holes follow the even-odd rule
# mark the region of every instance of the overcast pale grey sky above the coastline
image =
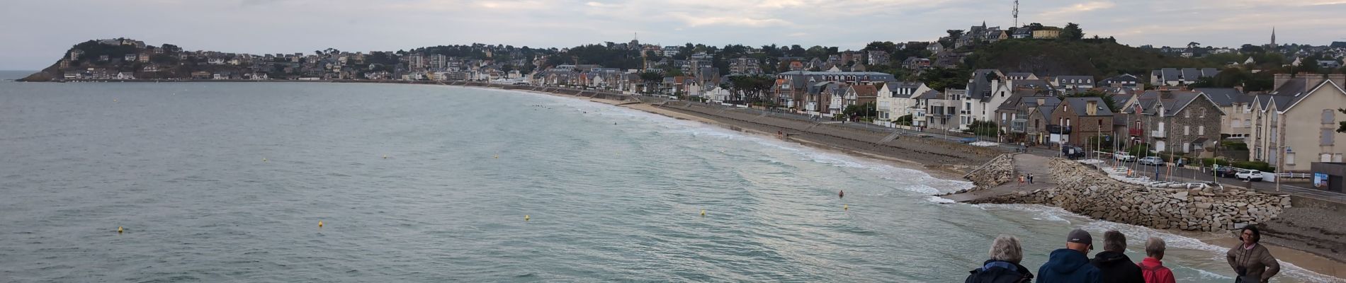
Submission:
MULTIPOLYGON (((38 70, 105 38, 276 54, 490 43, 864 47, 1011 27, 1012 0, 4 0, 0 70, 38 70)), ((1346 42, 1346 0, 1023 0, 1019 23, 1079 23, 1131 46, 1346 42)))

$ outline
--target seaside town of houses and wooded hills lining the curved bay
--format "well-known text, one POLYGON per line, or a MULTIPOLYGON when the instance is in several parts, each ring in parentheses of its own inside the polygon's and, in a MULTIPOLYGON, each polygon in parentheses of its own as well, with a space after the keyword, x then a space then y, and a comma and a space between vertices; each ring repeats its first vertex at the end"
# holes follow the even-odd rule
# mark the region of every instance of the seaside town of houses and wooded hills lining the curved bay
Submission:
POLYGON ((874 42, 860 51, 631 40, 572 48, 471 44, 254 55, 104 39, 74 46, 26 80, 402 80, 568 87, 1299 177, 1312 173, 1312 162, 1342 162, 1346 153, 1334 146, 1346 138, 1337 131, 1338 115, 1346 114, 1312 107, 1346 105, 1346 97, 1338 95, 1346 86, 1343 62, 1346 42, 1279 44, 1273 30, 1268 43, 1240 48, 1195 42, 1132 48, 1112 38, 1086 39, 1073 23, 1063 28, 980 23, 950 30, 933 42, 874 42), (1127 48, 1162 60, 1127 68, 1061 67, 1071 66, 1069 59, 1038 67, 976 63, 1015 62, 1007 58, 1014 54, 995 52, 1011 44, 1127 48))

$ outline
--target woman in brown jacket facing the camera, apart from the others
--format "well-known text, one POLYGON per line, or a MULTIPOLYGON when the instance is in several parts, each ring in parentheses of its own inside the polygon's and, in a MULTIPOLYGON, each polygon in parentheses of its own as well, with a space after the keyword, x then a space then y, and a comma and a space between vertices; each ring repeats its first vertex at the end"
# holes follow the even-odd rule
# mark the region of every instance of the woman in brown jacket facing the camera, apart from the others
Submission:
POLYGON ((1238 245, 1225 253, 1229 267, 1233 267, 1234 274, 1238 274, 1238 278, 1234 279, 1236 283, 1265 283, 1280 272, 1280 263, 1271 256, 1271 251, 1257 244, 1261 241, 1261 231, 1250 225, 1244 227, 1238 232, 1238 245))

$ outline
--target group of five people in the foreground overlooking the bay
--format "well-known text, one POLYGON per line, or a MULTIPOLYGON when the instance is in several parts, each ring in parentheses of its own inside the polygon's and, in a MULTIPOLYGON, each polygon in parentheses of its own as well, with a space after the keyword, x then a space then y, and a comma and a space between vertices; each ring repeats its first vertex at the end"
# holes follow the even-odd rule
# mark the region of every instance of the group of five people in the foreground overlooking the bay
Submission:
MULTIPOLYGON (((1245 227, 1238 233, 1237 247, 1225 253, 1229 267, 1234 270, 1236 283, 1265 283, 1280 272, 1280 264, 1271 256, 1267 247, 1257 244, 1261 232, 1256 227, 1245 227)), ((1102 252, 1089 259, 1093 237, 1088 231, 1074 229, 1066 236, 1066 248, 1051 251, 1047 263, 1038 268, 1036 282, 1136 282, 1172 283, 1174 272, 1163 264, 1164 240, 1149 237, 1145 241, 1145 259, 1140 263, 1127 258, 1127 236, 1117 231, 1102 235, 1102 252)), ((1023 248, 1019 239, 1000 235, 991 243, 991 259, 972 270, 966 283, 1027 283, 1034 274, 1020 266, 1023 248)))

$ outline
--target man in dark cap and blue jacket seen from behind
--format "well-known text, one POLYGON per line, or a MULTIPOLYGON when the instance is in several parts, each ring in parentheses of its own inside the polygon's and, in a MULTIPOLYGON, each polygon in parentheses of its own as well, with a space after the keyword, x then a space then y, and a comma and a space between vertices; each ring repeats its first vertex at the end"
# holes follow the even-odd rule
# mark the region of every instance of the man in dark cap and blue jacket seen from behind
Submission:
POLYGON ((1051 251, 1047 263, 1038 268, 1038 283, 1098 282, 1098 268, 1089 263, 1093 237, 1074 229, 1066 236, 1066 248, 1051 251))

